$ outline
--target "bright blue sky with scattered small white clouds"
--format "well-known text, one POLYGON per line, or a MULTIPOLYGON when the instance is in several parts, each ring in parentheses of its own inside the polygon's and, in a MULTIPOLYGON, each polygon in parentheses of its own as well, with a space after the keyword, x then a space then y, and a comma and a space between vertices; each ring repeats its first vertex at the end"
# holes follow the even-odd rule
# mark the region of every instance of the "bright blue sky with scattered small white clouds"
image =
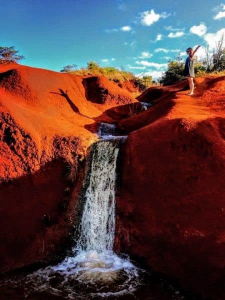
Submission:
POLYGON ((212 49, 222 32, 221 0, 0 0, 0 45, 56 71, 94 60, 158 77, 169 58, 212 49))

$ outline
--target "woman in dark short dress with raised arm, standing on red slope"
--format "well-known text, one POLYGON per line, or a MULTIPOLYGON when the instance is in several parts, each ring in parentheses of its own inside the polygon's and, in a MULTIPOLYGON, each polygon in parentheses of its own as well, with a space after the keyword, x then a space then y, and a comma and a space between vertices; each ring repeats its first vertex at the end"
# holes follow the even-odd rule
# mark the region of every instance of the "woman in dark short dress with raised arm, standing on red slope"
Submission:
POLYGON ((184 67, 184 76, 187 76, 188 82, 189 82, 189 87, 190 91, 187 93, 187 95, 192 95, 193 94, 193 88, 194 88, 194 83, 193 83, 193 77, 194 77, 194 60, 193 56, 197 49, 200 47, 197 46, 195 50, 193 50, 191 47, 186 49, 187 53, 187 58, 185 61, 185 67, 184 67))

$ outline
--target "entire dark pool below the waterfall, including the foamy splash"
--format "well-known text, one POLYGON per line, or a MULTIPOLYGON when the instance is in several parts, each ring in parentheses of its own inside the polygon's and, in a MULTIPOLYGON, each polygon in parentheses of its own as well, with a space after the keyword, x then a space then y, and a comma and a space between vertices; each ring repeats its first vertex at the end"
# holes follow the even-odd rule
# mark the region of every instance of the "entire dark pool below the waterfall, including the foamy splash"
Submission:
POLYGON ((127 255, 112 251, 83 251, 56 265, 5 277, 0 281, 0 295, 2 300, 199 299, 138 267, 127 255))

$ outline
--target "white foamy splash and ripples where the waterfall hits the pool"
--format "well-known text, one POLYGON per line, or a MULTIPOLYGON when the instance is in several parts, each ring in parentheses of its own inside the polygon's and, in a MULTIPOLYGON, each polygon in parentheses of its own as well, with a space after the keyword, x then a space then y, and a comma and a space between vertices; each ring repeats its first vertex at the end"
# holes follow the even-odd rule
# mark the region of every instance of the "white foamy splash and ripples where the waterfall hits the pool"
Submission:
POLYGON ((82 251, 27 275, 23 284, 28 292, 47 291, 65 298, 119 296, 132 293, 140 284, 138 272, 127 257, 119 257, 112 251, 82 251))

